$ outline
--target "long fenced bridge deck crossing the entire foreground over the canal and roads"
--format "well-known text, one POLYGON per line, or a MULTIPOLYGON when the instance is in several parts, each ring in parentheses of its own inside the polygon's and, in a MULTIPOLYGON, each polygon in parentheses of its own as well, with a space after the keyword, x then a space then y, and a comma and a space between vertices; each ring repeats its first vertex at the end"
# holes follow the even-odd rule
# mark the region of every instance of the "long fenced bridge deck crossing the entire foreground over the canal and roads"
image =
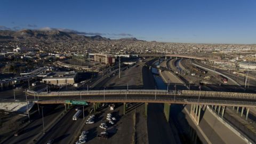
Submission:
MULTIPOLYGON (((35 92, 27 90, 29 101, 38 103, 65 103, 65 100, 84 100, 87 102, 146 102, 180 103, 198 105, 218 105, 255 107, 256 94, 213 91, 167 91, 167 90, 90 90, 35 92)), ((26 98, 16 99, 25 101, 26 98)), ((14 101, 1 99, 1 102, 14 101)))

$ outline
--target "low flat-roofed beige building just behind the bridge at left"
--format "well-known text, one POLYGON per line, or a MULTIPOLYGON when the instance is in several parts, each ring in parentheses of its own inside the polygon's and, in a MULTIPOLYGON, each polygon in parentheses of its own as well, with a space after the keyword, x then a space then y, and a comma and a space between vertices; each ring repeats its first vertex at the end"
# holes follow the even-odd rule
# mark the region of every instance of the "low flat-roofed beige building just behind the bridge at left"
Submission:
POLYGON ((54 85, 73 85, 76 83, 77 73, 73 71, 58 71, 43 78, 43 83, 54 85))

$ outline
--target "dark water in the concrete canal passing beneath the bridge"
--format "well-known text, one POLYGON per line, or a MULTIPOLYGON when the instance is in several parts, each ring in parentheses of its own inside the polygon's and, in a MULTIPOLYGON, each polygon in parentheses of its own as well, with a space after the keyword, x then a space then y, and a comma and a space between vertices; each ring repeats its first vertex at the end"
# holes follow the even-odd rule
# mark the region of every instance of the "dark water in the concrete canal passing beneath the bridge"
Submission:
MULTIPOLYGON (((156 62, 155 65, 159 65, 161 61, 156 62)), ((158 71, 156 68, 152 68, 152 73, 155 78, 156 87, 159 90, 166 90, 167 85, 164 83, 161 76, 157 75, 158 71)), ((170 117, 172 119, 171 122, 174 123, 176 129, 178 130, 179 138, 182 143, 202 143, 198 138, 196 131, 191 127, 186 119, 185 113, 182 112, 184 106, 183 105, 171 105, 170 109, 170 117)))

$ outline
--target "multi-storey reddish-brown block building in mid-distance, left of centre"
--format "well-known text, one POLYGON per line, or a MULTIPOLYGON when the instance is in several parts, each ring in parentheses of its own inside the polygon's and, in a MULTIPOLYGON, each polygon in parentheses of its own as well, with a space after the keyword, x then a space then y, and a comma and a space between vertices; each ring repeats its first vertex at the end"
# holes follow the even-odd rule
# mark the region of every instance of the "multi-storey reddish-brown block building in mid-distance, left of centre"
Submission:
POLYGON ((94 61, 104 63, 106 65, 112 65, 113 63, 115 63, 115 57, 114 55, 111 55, 111 54, 95 53, 94 61))

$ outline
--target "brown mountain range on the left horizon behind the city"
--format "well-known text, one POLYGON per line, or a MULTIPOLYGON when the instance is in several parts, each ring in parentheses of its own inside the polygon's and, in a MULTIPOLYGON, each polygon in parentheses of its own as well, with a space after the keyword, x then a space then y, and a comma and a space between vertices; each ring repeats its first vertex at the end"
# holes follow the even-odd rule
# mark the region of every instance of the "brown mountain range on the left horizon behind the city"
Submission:
POLYGON ((76 33, 64 32, 57 29, 23 29, 19 31, 0 30, 0 39, 37 39, 37 40, 84 40, 84 41, 110 41, 109 38, 101 36, 85 36, 76 33))

